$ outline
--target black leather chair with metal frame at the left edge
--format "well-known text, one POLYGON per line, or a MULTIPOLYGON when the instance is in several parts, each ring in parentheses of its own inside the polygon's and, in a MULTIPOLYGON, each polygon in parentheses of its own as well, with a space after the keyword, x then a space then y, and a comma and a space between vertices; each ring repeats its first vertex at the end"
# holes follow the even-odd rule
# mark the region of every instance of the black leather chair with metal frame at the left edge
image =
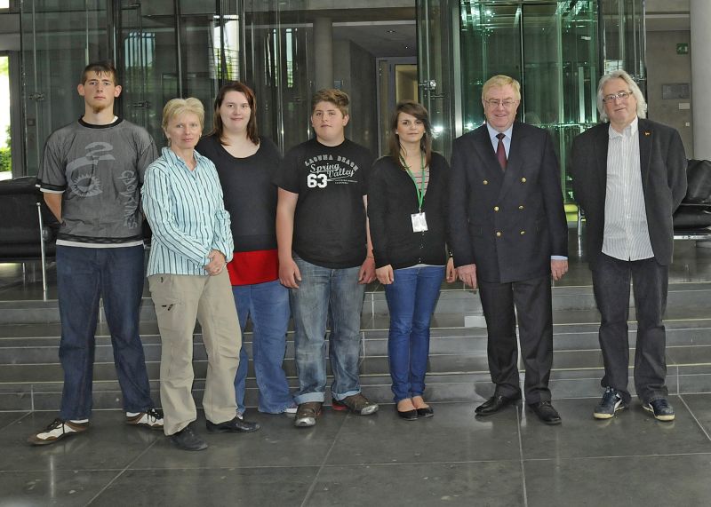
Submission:
POLYGON ((59 222, 44 204, 35 177, 0 181, 0 262, 42 261, 47 291, 47 259, 55 256, 59 222))

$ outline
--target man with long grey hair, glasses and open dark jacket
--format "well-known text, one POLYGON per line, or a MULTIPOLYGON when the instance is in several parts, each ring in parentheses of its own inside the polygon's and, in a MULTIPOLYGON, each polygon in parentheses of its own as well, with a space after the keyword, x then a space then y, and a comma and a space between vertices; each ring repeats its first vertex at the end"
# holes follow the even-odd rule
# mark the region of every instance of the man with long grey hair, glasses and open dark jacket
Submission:
POLYGON ((587 261, 601 313, 605 388, 595 408, 609 419, 627 408, 629 286, 635 290, 637 340, 635 390, 643 408, 660 421, 674 420, 667 402, 666 333, 672 214, 686 194, 686 155, 679 133, 645 120, 639 87, 623 70, 597 87, 603 123, 580 134, 572 147, 573 189, 585 210, 587 261))

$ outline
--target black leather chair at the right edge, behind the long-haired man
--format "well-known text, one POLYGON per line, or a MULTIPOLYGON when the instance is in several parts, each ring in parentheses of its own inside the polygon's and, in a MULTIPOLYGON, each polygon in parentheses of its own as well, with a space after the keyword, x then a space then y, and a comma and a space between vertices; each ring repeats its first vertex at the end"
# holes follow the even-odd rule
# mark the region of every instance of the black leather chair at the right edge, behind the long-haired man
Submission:
POLYGON ((675 240, 711 240, 711 161, 690 160, 686 196, 674 214, 675 240))

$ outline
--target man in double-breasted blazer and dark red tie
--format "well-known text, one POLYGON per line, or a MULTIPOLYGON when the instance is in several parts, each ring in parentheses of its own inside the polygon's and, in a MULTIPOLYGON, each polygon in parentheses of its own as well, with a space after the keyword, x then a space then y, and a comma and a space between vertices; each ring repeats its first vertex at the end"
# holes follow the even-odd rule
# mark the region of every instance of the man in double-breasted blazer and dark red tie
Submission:
POLYGON ((521 399, 517 313, 526 403, 542 422, 560 424, 548 389, 550 276, 568 271, 568 228, 553 142, 546 131, 515 122, 520 101, 515 79, 492 77, 482 91, 486 124, 454 141, 451 250, 459 278, 478 283, 489 335, 496 389, 475 414, 490 416, 521 399))

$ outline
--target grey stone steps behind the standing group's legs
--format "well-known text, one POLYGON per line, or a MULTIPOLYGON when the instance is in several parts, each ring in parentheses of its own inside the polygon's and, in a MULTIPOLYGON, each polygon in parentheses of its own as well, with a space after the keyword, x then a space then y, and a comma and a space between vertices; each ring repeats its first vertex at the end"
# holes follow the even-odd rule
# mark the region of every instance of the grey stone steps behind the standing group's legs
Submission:
MULTIPOLYGON (((432 325, 427 400, 474 401, 491 395, 486 360, 486 330, 479 297, 472 290, 443 286, 432 325), (471 326, 481 327, 471 327, 471 326)), ((7 290, 0 292, 6 296, 7 290)), ((36 295, 0 302, 0 410, 51 410, 60 406, 62 370, 59 363, 60 323, 56 298, 36 295)), ((11 297, 6 297, 10 299, 11 297)), ((555 287, 554 350, 551 389, 556 399, 598 397, 603 376, 597 344, 598 313, 592 288, 555 287)), ((711 392, 711 283, 673 283, 667 304, 667 385, 670 393, 711 392)), ((630 312, 634 318, 634 310, 630 312)), ((372 400, 391 402, 387 368, 387 305, 377 285, 369 287, 363 305, 361 382, 372 400)), ((148 376, 156 402, 160 337, 150 298, 141 308, 141 337, 148 376)), ((630 325, 634 347, 635 326, 630 325)), ((244 341, 252 356, 252 334, 244 341)), ((199 328, 195 334, 196 400, 202 398, 207 361, 199 328)), ((634 357, 634 351, 631 353, 634 357)), ((293 340, 287 341, 284 369, 297 386, 293 340)), ((246 405, 257 404, 252 365, 246 405)), ((630 369, 630 373, 631 373, 630 369)), ((630 383, 632 385, 632 383, 630 383)), ((94 363, 94 408, 121 408, 113 355, 105 320, 97 330, 94 363)), ((330 400, 326 395, 327 402, 330 400)))

